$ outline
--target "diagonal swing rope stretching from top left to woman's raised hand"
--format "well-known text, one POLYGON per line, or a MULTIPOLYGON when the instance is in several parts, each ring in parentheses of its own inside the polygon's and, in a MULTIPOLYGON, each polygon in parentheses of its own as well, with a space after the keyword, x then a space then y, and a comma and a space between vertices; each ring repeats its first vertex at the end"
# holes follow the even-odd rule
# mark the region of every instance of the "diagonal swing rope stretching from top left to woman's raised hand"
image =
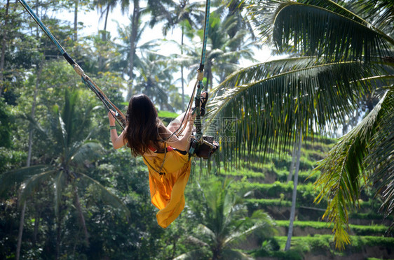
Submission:
POLYGON ((30 6, 26 3, 26 1, 19 0, 19 2, 22 4, 22 6, 25 8, 25 10, 27 10, 27 13, 29 13, 29 15, 32 16, 32 18, 39 25, 39 27, 41 27, 41 29, 48 36, 48 38, 50 38, 50 40, 56 45, 57 50, 59 50, 59 52, 63 55, 64 59, 66 59, 67 62, 73 66, 74 71, 78 75, 81 76, 81 80, 83 83, 85 83, 86 87, 88 87, 90 90, 92 90, 96 94, 96 96, 102 101, 102 103, 104 104, 104 107, 107 108, 108 111, 111 109, 116 111, 116 115, 114 116, 116 119, 116 122, 118 122, 118 124, 122 127, 122 129, 125 129, 125 126, 126 126, 125 115, 123 115, 121 110, 119 110, 114 105, 114 103, 112 103, 108 99, 108 97, 104 94, 104 92, 102 92, 100 87, 98 87, 97 84, 93 80, 91 80, 88 77, 88 75, 86 75, 83 72, 83 69, 76 62, 74 62, 74 59, 72 59, 72 57, 70 57, 67 54, 67 52, 64 50, 62 45, 60 45, 60 43, 57 41, 55 36, 53 36, 53 34, 50 33, 49 29, 46 27, 45 24, 43 24, 41 19, 36 15, 36 13, 34 13, 32 8, 30 8, 30 6))

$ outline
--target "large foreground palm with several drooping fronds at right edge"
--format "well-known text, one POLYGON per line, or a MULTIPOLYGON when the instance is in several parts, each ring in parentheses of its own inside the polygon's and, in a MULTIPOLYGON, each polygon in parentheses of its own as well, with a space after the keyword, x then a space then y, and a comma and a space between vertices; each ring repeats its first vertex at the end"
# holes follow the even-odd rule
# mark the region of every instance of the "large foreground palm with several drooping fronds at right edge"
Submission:
MULTIPOLYGON (((374 1, 376 6, 355 3, 256 1, 249 10, 261 41, 272 43, 278 52, 290 50, 293 56, 232 73, 215 88, 208 107, 208 123, 220 117, 238 120, 238 131, 221 133, 236 137, 235 142, 221 146, 227 159, 224 163, 236 164, 246 154, 254 160, 273 147, 285 151, 301 132, 305 138, 313 136, 315 129, 335 130, 337 122, 345 122, 346 115, 351 117, 362 96, 379 94, 381 106, 365 117, 353 135, 342 139, 319 167, 322 175, 316 185, 322 192, 317 201, 328 200, 324 216, 334 222, 337 247, 349 242, 348 208, 358 202, 362 179, 372 170, 379 176, 383 171, 376 170, 384 169, 386 178, 381 184, 388 187, 383 206, 393 203, 393 184, 389 182, 393 147, 378 142, 376 136, 383 133, 380 129, 386 129, 387 138, 393 137, 393 127, 385 127, 387 121, 381 117, 394 106, 390 98, 394 39, 389 35, 393 33, 392 23, 387 22, 393 17, 388 15, 380 23, 372 19, 379 17, 377 13, 390 13, 386 9, 393 10, 393 4, 379 9, 376 6, 383 1, 374 1), (391 24, 388 31, 387 24, 391 24), (374 146, 368 146, 371 144, 374 146), (379 159, 366 161, 371 154, 379 154, 379 159), (365 171, 366 165, 370 171, 365 171)), ((392 212, 388 207, 386 213, 392 212)))

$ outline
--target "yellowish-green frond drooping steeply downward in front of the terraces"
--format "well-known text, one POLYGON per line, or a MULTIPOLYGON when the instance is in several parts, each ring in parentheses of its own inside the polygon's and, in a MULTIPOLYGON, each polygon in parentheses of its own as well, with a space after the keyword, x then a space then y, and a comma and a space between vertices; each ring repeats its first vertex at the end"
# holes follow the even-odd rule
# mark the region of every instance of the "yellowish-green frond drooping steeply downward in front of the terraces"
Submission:
POLYGON ((358 203, 362 181, 369 177, 363 163, 368 152, 367 145, 381 118, 384 100, 383 97, 355 129, 342 137, 313 171, 321 172, 315 182, 315 187, 320 190, 315 202, 328 200, 323 218, 334 222, 334 237, 339 248, 350 242, 347 233, 348 208, 358 203))

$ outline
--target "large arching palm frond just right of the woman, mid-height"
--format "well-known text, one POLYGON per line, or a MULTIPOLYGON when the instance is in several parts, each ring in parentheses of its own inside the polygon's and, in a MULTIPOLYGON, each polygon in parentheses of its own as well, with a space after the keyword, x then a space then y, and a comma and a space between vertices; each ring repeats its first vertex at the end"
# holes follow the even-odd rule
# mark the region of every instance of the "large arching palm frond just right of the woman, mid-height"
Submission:
POLYGON ((335 122, 344 122, 355 101, 369 91, 360 78, 379 73, 379 68, 356 62, 315 64, 306 59, 297 69, 283 71, 287 62, 290 70, 292 60, 286 59, 260 64, 261 73, 254 66, 240 71, 239 79, 233 74, 210 99, 206 132, 222 138, 222 154, 230 162, 246 154, 252 161, 278 144, 289 147, 300 129, 312 136, 314 129, 335 129, 335 122), (273 64, 281 68, 269 73, 273 64), (256 81, 227 87, 233 80, 246 81, 248 74, 256 81))

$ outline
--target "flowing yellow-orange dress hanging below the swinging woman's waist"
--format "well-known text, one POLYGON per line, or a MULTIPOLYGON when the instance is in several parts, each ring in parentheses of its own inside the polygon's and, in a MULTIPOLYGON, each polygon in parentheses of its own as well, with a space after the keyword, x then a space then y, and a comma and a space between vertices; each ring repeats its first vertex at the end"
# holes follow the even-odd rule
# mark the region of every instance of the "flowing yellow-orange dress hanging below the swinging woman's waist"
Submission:
POLYGON ((149 169, 151 202, 159 209, 157 222, 165 229, 184 209, 184 189, 190 176, 191 160, 189 154, 176 150, 155 155, 144 157, 144 164, 149 169), (162 174, 158 173, 160 169, 162 174))

